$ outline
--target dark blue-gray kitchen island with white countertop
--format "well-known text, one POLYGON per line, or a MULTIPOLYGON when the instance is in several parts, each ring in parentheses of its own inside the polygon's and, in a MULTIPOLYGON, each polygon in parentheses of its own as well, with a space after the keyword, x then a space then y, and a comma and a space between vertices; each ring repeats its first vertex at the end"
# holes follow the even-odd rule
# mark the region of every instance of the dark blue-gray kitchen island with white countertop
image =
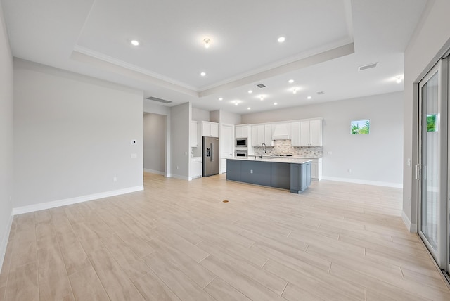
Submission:
POLYGON ((226 179, 301 193, 311 184, 311 160, 227 159, 226 179))

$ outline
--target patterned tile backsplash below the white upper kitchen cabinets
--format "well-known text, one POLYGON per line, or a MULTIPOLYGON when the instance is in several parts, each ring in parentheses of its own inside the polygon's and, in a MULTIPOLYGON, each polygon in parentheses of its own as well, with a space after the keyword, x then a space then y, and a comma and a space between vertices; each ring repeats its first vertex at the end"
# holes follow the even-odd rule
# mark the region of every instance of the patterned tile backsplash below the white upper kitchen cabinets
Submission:
MULTIPOLYGON (((254 146, 255 153, 261 153, 261 146, 254 146)), ((275 140, 274 146, 267 146, 264 155, 295 155, 304 158, 322 158, 322 146, 292 146, 290 140, 275 140)))

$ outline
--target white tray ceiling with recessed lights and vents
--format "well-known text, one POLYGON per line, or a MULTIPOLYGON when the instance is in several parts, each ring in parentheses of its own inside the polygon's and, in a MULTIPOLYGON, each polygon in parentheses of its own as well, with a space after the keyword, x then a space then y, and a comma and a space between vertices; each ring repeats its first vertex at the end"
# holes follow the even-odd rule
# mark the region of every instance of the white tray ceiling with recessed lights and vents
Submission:
POLYGON ((427 1, 1 3, 15 57, 141 89, 169 106, 247 114, 402 91, 404 49, 427 1))

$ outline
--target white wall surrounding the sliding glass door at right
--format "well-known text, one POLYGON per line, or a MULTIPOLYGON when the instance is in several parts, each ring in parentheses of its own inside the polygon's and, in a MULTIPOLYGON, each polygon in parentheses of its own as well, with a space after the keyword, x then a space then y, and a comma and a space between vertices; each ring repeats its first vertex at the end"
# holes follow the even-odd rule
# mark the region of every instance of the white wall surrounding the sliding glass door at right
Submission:
POLYGON ((417 231, 417 181, 413 166, 418 162, 418 88, 420 79, 449 47, 449 0, 428 1, 422 20, 404 54, 404 195, 403 217, 411 232, 417 231), (411 158, 411 166, 406 164, 411 158), (411 204, 409 203, 411 199, 411 204))

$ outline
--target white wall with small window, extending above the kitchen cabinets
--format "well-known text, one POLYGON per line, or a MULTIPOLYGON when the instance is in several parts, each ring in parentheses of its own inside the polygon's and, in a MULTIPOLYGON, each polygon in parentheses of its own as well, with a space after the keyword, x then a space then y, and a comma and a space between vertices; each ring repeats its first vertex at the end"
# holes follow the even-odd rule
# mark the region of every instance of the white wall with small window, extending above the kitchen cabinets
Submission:
POLYGON ((243 115, 242 122, 323 117, 324 179, 399 187, 403 171, 402 108, 403 94, 397 92, 252 113, 243 115), (361 119, 371 120, 371 133, 350 135, 350 122, 361 119))

